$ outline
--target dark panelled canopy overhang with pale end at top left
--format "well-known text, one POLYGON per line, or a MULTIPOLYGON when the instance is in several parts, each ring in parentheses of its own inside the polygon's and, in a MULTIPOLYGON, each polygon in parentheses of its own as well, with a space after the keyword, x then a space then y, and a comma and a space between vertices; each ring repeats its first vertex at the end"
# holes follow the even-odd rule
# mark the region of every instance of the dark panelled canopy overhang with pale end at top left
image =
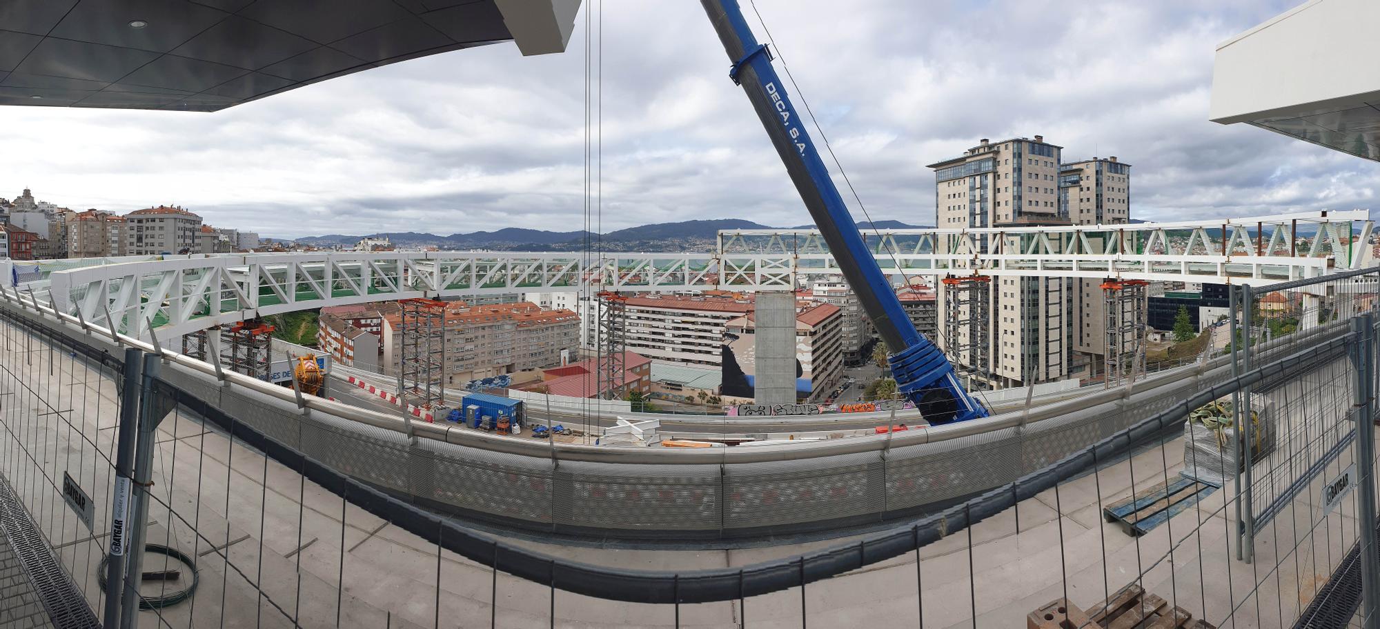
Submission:
POLYGON ((564 50, 578 0, 0 0, 0 105, 214 112, 417 57, 564 50))

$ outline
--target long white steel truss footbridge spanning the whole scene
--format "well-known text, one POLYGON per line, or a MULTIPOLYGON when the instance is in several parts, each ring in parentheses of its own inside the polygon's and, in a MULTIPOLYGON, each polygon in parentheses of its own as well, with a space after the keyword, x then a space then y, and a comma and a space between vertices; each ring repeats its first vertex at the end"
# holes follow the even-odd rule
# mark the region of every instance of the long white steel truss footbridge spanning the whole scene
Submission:
MULTIPOLYGON (((883 272, 1064 276, 1265 286, 1373 263, 1363 210, 1230 221, 864 232, 883 272)), ((818 232, 726 230, 718 251, 301 252, 164 255, 73 268, 0 262, 63 312, 130 335, 175 338, 253 316, 406 298, 596 290, 792 288, 839 273, 818 232), (21 266, 23 273, 19 273, 21 266), (47 284, 47 286, 46 286, 47 284)))

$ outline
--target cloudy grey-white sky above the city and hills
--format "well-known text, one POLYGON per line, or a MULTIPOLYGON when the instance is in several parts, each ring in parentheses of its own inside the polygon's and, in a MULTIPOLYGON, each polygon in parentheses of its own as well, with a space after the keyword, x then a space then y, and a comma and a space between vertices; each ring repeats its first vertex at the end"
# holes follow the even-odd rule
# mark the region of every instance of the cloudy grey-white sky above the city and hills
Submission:
MULTIPOLYGON (((1143 219, 1370 207, 1380 186, 1374 163, 1208 121, 1216 44, 1297 0, 756 3, 875 219, 933 223, 925 164, 1036 134, 1133 164, 1143 219)), ((277 237, 580 229, 588 8, 566 54, 489 46, 218 113, 0 108, 0 196, 277 237)), ((810 222, 698 3, 599 14, 603 230, 810 222)))

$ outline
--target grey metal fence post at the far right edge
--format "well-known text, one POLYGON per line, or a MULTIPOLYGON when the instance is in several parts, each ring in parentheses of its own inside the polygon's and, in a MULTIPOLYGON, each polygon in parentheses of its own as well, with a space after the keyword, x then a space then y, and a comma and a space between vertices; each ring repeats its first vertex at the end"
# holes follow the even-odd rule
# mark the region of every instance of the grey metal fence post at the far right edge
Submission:
POLYGON ((1374 314, 1365 313, 1351 319, 1352 343, 1352 392, 1351 412, 1357 422, 1357 517, 1361 526, 1361 604, 1366 628, 1376 628, 1376 604, 1380 603, 1380 555, 1376 548, 1376 480, 1374 480, 1374 314))

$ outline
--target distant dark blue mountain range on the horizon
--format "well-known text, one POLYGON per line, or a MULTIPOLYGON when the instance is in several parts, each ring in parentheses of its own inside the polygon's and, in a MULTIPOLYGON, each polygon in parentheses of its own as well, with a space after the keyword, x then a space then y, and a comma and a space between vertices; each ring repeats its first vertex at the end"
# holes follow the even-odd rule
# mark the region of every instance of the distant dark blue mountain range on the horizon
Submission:
MULTIPOLYGON (((813 229, 814 225, 798 225, 789 229, 813 229)), ((860 222, 860 229, 874 229, 871 222, 860 222)), ((922 225, 907 225, 900 221, 876 221, 876 229, 918 229, 922 225)), ((504 228, 494 232, 468 232, 439 236, 418 232, 381 232, 370 234, 305 236, 295 239, 301 244, 315 247, 352 247, 364 237, 388 237, 397 247, 429 247, 442 250, 495 250, 495 251, 582 251, 603 248, 604 251, 704 251, 713 248, 720 229, 773 229, 771 226, 741 218, 718 218, 707 221, 680 221, 668 223, 640 225, 618 229, 604 234, 595 232, 548 232, 545 229, 504 228)))

